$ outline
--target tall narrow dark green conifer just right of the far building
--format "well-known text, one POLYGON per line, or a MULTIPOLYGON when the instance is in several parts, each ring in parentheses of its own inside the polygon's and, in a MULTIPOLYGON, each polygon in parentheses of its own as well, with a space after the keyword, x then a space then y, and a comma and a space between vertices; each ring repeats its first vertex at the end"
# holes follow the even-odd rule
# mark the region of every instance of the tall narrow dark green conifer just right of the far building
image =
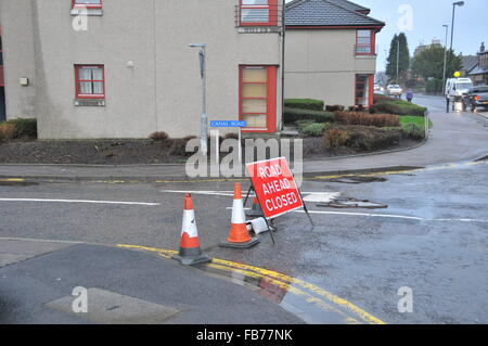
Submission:
POLYGON ((394 36, 389 47, 389 54, 386 63, 386 75, 389 80, 401 82, 407 79, 410 67, 410 51, 407 36, 403 33, 394 36), (399 55, 398 47, 400 48, 399 55), (397 80, 397 62, 398 62, 398 80, 397 80))

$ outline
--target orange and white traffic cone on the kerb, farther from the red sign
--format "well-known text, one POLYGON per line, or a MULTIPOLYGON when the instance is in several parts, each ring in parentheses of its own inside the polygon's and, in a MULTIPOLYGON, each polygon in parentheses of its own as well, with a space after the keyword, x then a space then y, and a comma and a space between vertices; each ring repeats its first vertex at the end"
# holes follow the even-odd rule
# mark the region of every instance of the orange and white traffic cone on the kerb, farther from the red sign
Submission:
POLYGON ((181 227, 180 252, 174 256, 181 264, 193 266, 211 261, 207 256, 202 255, 200 249, 198 230, 196 229, 195 212, 193 210, 192 196, 187 193, 184 196, 183 225, 181 227))

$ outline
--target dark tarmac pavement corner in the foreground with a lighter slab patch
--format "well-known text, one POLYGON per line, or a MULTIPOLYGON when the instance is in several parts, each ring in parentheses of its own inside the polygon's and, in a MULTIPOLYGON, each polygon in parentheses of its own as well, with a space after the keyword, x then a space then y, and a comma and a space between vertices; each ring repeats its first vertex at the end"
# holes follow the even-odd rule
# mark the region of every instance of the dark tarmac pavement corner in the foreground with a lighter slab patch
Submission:
POLYGON ((142 252, 0 241, 0 323, 304 323, 252 290, 142 252), (72 309, 88 290, 88 312, 72 309))

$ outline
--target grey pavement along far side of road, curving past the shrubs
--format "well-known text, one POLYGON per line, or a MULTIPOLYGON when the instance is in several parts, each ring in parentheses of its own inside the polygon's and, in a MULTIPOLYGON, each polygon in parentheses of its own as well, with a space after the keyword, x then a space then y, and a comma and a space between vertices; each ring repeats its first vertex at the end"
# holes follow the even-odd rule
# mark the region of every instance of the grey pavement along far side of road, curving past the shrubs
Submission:
MULTIPOLYGON (((446 113, 441 98, 418 97, 415 102, 429 108, 434 123, 427 143, 416 149, 347 158, 304 163, 305 174, 336 174, 393 167, 424 167, 471 161, 488 154, 488 119, 471 113, 446 113)), ((47 166, 0 165, 0 178, 64 179, 187 179, 184 165, 139 166, 47 166)))

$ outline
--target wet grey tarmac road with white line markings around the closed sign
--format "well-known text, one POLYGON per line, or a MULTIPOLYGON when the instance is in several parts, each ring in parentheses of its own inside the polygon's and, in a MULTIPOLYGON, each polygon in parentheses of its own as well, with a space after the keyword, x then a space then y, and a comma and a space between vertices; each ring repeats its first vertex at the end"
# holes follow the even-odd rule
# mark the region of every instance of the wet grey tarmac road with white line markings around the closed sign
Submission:
MULTIPOLYGON (((487 323, 487 163, 479 162, 385 175, 386 181, 370 183, 307 180, 306 195, 339 192, 389 207, 337 210, 311 203, 313 230, 304 214, 293 213, 277 220, 274 246, 261 234, 261 243, 246 251, 216 246, 229 232, 232 182, 3 183, 0 236, 177 249, 179 191, 194 191, 202 246, 213 257, 312 283, 387 323, 487 323), (413 290, 413 313, 398 312, 402 286, 413 290)), ((293 294, 294 286, 279 297, 283 307, 307 322, 330 321, 293 294)))

